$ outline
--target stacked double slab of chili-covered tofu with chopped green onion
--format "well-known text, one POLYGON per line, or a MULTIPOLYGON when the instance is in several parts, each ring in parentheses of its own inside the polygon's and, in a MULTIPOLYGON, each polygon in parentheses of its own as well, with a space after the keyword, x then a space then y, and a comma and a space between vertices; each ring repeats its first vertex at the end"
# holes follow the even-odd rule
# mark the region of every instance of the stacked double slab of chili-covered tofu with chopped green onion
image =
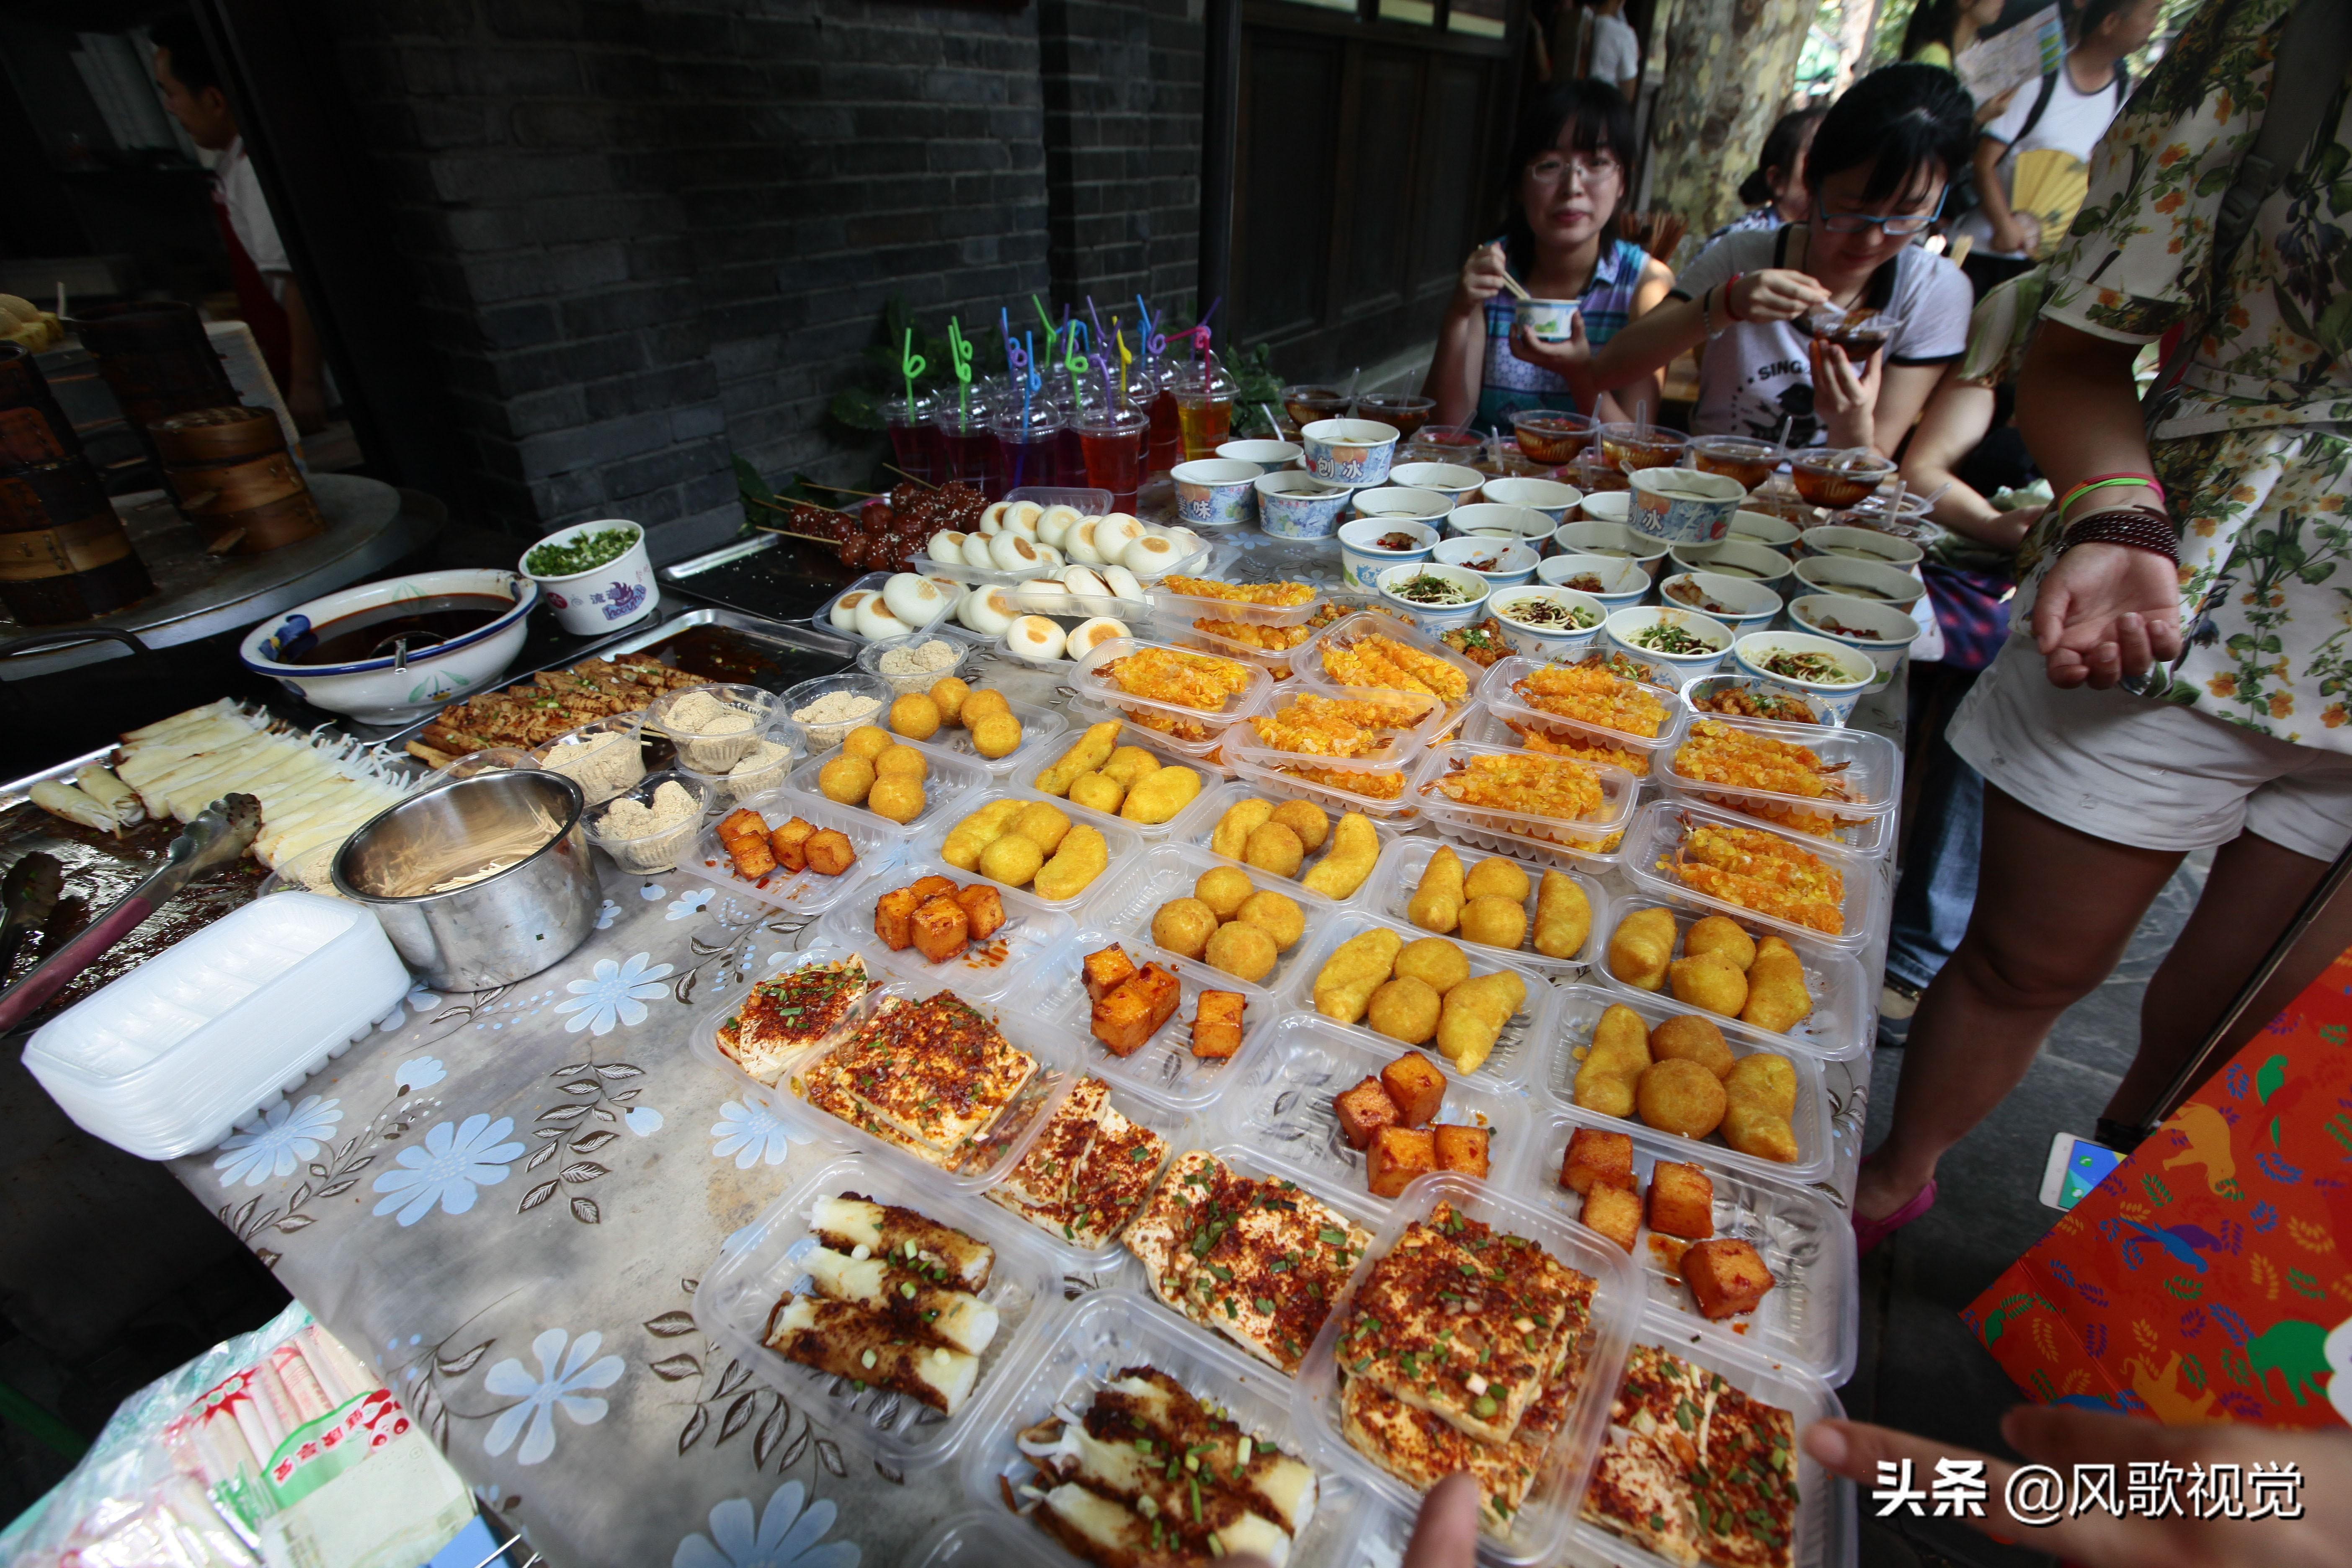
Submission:
POLYGON ((1482 1443, 1519 1429, 1583 1338, 1592 1279, 1439 1204, 1371 1265, 1338 1361, 1482 1443))

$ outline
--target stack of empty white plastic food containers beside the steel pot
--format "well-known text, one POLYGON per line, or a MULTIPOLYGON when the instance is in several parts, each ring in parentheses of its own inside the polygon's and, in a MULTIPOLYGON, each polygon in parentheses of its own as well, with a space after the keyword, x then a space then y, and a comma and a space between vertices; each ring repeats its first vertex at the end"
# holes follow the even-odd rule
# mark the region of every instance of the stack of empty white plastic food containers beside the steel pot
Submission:
POLYGON ((367 1039, 407 990, 372 910, 285 891, 82 997, 33 1034, 24 1065, 82 1131, 179 1159, 367 1039))

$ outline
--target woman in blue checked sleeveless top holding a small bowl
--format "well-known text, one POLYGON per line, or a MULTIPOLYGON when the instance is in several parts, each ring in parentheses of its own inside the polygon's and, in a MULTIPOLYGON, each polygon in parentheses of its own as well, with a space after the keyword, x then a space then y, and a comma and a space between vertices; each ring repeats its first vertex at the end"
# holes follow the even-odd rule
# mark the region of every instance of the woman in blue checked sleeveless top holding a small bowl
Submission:
POLYGON ((1665 299, 1675 275, 1632 240, 1616 237, 1632 158, 1632 115, 1602 82, 1571 82, 1519 125, 1503 195, 1503 237, 1470 252, 1454 303, 1437 329, 1423 393, 1435 423, 1510 433, 1517 409, 1571 409, 1632 418, 1635 402, 1658 407, 1658 376, 1642 371, 1573 393, 1512 336, 1505 270, 1536 299, 1573 299, 1583 339, 1606 343, 1628 320, 1665 299))

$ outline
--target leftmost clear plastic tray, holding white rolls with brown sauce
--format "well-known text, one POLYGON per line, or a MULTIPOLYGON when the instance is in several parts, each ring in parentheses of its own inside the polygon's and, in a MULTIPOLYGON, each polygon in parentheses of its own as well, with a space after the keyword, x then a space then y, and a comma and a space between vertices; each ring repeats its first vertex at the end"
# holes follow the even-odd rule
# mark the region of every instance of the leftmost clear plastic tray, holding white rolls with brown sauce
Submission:
POLYGON ((969 1197, 943 1192, 922 1175, 894 1164, 844 1154, 828 1159, 783 1197, 769 1204, 748 1232, 739 1232, 734 1251, 720 1253, 703 1269, 694 1291, 694 1324, 729 1356, 788 1394, 802 1410, 826 1415, 835 1436, 858 1443, 896 1469, 946 1465, 962 1448, 995 1382, 1014 1375, 1054 1333, 1054 1307, 1061 1305, 1061 1260, 1037 1246, 1028 1227, 969 1197), (971 1399, 955 1415, 882 1389, 858 1389, 847 1378, 788 1361, 764 1345, 767 1319, 795 1286, 807 1286, 804 1258, 816 1248, 809 1215, 818 1199, 856 1192, 877 1204, 913 1208, 927 1220, 950 1225, 995 1248, 995 1265, 981 1300, 997 1309, 997 1333, 981 1352, 981 1375, 971 1399))

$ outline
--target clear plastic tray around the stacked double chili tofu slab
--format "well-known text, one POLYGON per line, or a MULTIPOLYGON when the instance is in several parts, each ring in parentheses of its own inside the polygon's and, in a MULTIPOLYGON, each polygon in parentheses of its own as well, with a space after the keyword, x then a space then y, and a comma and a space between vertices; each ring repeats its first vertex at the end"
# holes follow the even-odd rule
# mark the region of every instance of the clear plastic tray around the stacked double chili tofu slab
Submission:
POLYGON ((1609 1399, 1625 1371, 1625 1349, 1632 1345, 1642 1314, 1642 1281, 1635 1276, 1632 1258, 1583 1225, 1566 1222, 1548 1208, 1508 1197, 1496 1182, 1475 1182, 1449 1173, 1414 1180, 1374 1227, 1371 1251, 1357 1262, 1355 1274, 1348 1279, 1348 1291, 1331 1309, 1322 1333, 1315 1335, 1315 1347, 1308 1349, 1305 1366, 1298 1373, 1291 1413, 1301 1436, 1315 1446, 1315 1458, 1324 1467, 1345 1474, 1392 1507, 1406 1512, 1418 1507, 1421 1497, 1411 1488, 1357 1453, 1341 1436, 1341 1387, 1334 1349, 1371 1267, 1395 1248, 1406 1225, 1425 1220, 1439 1201, 1501 1232, 1536 1241, 1555 1260, 1595 1281, 1592 1316, 1585 1338, 1585 1375, 1576 1389, 1569 1418, 1545 1448, 1543 1469, 1526 1495, 1526 1505, 1512 1521, 1510 1535, 1479 1535, 1479 1559, 1489 1563, 1522 1566, 1552 1561, 1576 1521, 1576 1505, 1583 1500, 1585 1481, 1592 1474, 1592 1455, 1599 1450, 1609 1422, 1609 1399))

